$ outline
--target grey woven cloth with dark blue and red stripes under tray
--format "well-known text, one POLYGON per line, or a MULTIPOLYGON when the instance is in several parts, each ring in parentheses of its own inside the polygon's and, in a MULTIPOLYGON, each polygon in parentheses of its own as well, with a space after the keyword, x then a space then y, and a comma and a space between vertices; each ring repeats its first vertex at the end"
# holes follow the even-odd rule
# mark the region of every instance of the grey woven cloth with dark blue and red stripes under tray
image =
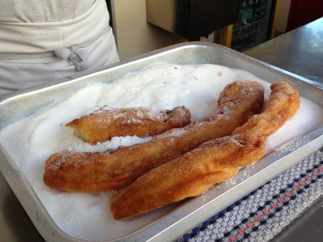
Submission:
POLYGON ((317 151, 176 241, 268 241, 323 194, 322 177, 317 151))

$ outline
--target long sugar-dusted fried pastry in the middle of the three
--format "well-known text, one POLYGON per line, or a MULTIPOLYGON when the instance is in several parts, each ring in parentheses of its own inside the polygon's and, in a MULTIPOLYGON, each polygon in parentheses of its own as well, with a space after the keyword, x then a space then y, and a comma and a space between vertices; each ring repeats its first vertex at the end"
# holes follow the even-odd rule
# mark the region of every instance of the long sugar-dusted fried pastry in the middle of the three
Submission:
POLYGON ((44 183, 72 192, 99 192, 126 187, 140 175, 180 157, 203 142, 231 134, 250 116, 259 113, 263 92, 257 82, 234 82, 221 93, 219 109, 200 122, 111 152, 52 154, 45 163, 44 183))

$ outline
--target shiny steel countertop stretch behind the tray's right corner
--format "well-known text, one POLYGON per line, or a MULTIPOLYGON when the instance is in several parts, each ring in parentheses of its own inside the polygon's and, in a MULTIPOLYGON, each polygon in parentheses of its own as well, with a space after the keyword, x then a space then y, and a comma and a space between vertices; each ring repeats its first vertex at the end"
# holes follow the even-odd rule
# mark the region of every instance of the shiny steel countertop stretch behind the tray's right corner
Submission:
POLYGON ((323 18, 244 51, 286 71, 323 82, 323 18))

